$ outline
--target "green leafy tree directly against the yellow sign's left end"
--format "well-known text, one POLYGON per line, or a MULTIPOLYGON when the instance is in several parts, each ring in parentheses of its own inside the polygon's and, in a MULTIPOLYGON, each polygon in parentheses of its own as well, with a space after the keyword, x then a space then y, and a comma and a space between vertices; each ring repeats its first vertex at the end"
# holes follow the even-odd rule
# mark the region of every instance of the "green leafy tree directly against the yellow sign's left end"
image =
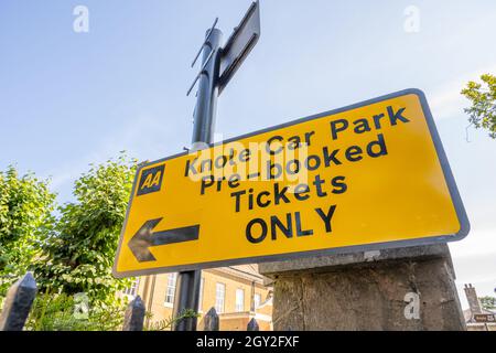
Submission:
POLYGON ((111 272, 117 243, 136 172, 136 161, 121 154, 91 165, 75 182, 76 202, 60 207, 60 218, 41 244, 35 266, 41 290, 68 296, 86 293, 91 306, 116 303, 129 280, 111 272))

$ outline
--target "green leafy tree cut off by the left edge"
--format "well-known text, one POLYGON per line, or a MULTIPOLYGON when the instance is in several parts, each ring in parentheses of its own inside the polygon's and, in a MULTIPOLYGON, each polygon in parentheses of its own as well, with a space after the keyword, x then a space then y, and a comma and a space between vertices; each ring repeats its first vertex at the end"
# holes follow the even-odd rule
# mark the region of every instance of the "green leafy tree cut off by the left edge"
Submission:
POLYGON ((36 242, 53 226, 54 202, 48 181, 20 176, 12 165, 0 172, 0 296, 36 256, 36 242))

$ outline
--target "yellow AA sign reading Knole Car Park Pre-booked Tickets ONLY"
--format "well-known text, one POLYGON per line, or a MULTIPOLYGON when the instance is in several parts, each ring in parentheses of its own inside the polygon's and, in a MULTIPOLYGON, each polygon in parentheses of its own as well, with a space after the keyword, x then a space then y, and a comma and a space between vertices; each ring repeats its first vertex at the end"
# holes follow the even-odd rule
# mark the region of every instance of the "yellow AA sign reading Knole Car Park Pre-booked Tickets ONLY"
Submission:
POLYGON ((409 89, 142 165, 117 277, 459 240, 468 221, 409 89))

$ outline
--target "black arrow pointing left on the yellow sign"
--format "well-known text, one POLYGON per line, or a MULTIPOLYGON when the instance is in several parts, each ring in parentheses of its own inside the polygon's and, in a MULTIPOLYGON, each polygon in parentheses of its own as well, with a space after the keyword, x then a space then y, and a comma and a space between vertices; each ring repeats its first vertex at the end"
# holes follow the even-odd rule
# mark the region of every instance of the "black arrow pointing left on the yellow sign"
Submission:
POLYGON ((162 220, 163 218, 147 221, 131 240, 129 240, 128 246, 138 261, 157 261, 157 258, 149 250, 150 247, 194 242, 198 239, 200 225, 153 233, 153 229, 162 220))

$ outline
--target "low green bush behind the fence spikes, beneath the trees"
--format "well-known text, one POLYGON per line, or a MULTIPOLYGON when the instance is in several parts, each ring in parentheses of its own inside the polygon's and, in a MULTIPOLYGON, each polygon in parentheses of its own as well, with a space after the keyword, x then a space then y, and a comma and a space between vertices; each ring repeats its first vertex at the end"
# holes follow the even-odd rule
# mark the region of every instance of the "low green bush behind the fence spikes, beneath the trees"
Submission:
POLYGON ((75 313, 73 296, 39 295, 28 318, 29 331, 119 331, 122 328, 125 306, 91 308, 87 315, 75 313))

